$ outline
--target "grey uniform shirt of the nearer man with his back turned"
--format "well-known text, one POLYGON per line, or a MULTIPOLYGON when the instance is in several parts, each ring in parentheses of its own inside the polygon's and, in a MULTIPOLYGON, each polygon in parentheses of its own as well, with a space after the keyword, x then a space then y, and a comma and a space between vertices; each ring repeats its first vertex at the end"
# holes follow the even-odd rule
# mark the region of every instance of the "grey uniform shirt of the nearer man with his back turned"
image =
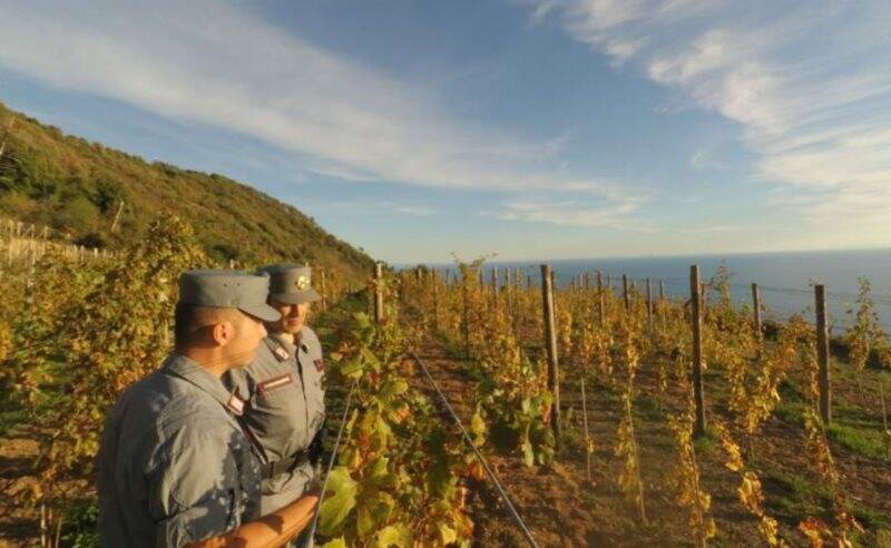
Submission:
POLYGON ((179 354, 111 410, 98 459, 99 539, 179 547, 256 519, 260 470, 221 380, 179 354))

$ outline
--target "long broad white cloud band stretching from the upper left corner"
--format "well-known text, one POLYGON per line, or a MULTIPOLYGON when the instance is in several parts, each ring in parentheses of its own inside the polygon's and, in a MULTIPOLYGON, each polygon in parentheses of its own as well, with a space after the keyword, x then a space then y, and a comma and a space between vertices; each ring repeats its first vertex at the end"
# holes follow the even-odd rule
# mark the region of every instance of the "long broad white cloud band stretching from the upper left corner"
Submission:
POLYGON ((568 135, 530 141, 461 119, 437 90, 334 55, 248 7, 6 1, 0 66, 241 131, 346 180, 499 192, 582 186, 596 197, 598 180, 560 169, 568 135))

